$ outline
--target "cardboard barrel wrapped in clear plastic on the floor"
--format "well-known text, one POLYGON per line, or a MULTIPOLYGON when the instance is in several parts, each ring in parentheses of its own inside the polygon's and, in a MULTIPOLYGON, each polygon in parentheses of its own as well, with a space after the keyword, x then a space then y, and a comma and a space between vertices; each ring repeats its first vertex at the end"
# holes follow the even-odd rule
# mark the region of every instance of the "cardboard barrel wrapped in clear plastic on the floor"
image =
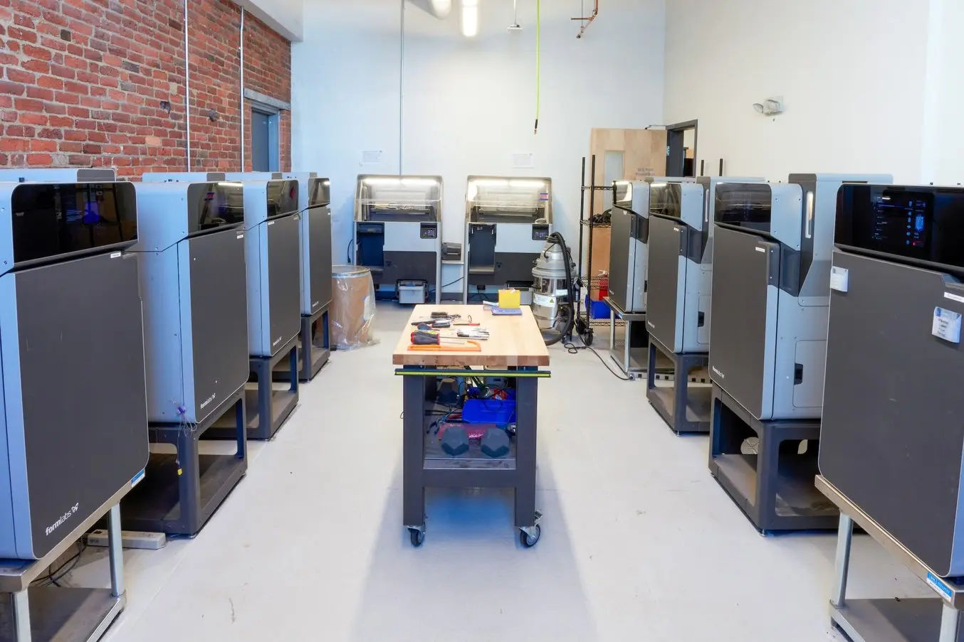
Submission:
POLYGON ((339 350, 366 346, 375 317, 375 286, 371 270, 359 266, 332 267, 332 345, 339 350))

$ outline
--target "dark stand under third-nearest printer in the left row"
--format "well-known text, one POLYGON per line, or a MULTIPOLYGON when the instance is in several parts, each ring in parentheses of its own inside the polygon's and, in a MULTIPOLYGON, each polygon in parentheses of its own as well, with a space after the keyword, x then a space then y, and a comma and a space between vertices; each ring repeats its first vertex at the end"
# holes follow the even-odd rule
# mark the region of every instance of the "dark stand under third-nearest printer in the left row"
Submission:
MULTIPOLYGON (((245 412, 248 420, 248 439, 268 440, 275 436, 298 405, 298 342, 300 335, 292 337, 273 356, 251 357, 251 372, 256 383, 245 386, 245 412), (275 390, 272 385, 275 366, 288 360, 288 377, 291 386, 287 390, 275 390), (262 421, 270 417, 270 421, 262 421)), ((234 439, 234 422, 222 418, 204 433, 209 439, 234 439)))

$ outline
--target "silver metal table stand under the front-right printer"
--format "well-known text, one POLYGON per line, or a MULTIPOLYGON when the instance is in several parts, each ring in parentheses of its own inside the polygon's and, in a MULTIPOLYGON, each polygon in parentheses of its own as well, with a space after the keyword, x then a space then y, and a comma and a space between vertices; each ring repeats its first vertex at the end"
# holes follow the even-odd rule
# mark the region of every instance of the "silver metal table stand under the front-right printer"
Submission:
POLYGON ((817 475, 816 486, 841 511, 834 592, 830 598, 830 618, 833 623, 853 642, 964 642, 959 610, 964 605, 964 583, 960 578, 938 577, 822 475, 817 475), (923 579, 937 597, 846 600, 850 542, 855 522, 885 551, 923 579))

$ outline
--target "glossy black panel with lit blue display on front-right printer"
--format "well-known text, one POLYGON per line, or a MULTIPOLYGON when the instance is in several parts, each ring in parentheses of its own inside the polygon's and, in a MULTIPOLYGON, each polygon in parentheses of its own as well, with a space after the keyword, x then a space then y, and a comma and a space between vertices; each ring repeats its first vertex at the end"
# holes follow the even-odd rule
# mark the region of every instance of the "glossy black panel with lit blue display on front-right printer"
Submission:
POLYGON ((964 190, 844 185, 836 244, 964 269, 964 190))

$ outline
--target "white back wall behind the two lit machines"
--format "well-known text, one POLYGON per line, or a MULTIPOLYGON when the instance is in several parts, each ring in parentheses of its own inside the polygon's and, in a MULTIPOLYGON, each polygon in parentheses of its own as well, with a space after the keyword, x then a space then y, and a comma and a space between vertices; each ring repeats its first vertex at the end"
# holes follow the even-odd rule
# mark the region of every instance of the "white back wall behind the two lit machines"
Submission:
MULTIPOLYGON (((608 0, 583 39, 570 20, 578 3, 542 0, 537 136, 534 0, 519 0, 521 32, 506 29, 512 0, 481 2, 475 39, 460 34, 457 9, 440 21, 408 7, 401 105, 398 0, 309 0, 305 10, 305 40, 292 46, 292 163, 331 174, 341 259, 356 175, 395 173, 399 162, 442 174, 443 237, 460 243, 469 174, 549 176, 556 226, 575 246, 590 129, 662 122, 662 0, 608 0), (362 151, 378 149, 383 162, 362 167, 362 151), (516 152, 531 152, 534 167, 514 169, 516 152)), ((458 275, 446 270, 443 282, 458 275)))

